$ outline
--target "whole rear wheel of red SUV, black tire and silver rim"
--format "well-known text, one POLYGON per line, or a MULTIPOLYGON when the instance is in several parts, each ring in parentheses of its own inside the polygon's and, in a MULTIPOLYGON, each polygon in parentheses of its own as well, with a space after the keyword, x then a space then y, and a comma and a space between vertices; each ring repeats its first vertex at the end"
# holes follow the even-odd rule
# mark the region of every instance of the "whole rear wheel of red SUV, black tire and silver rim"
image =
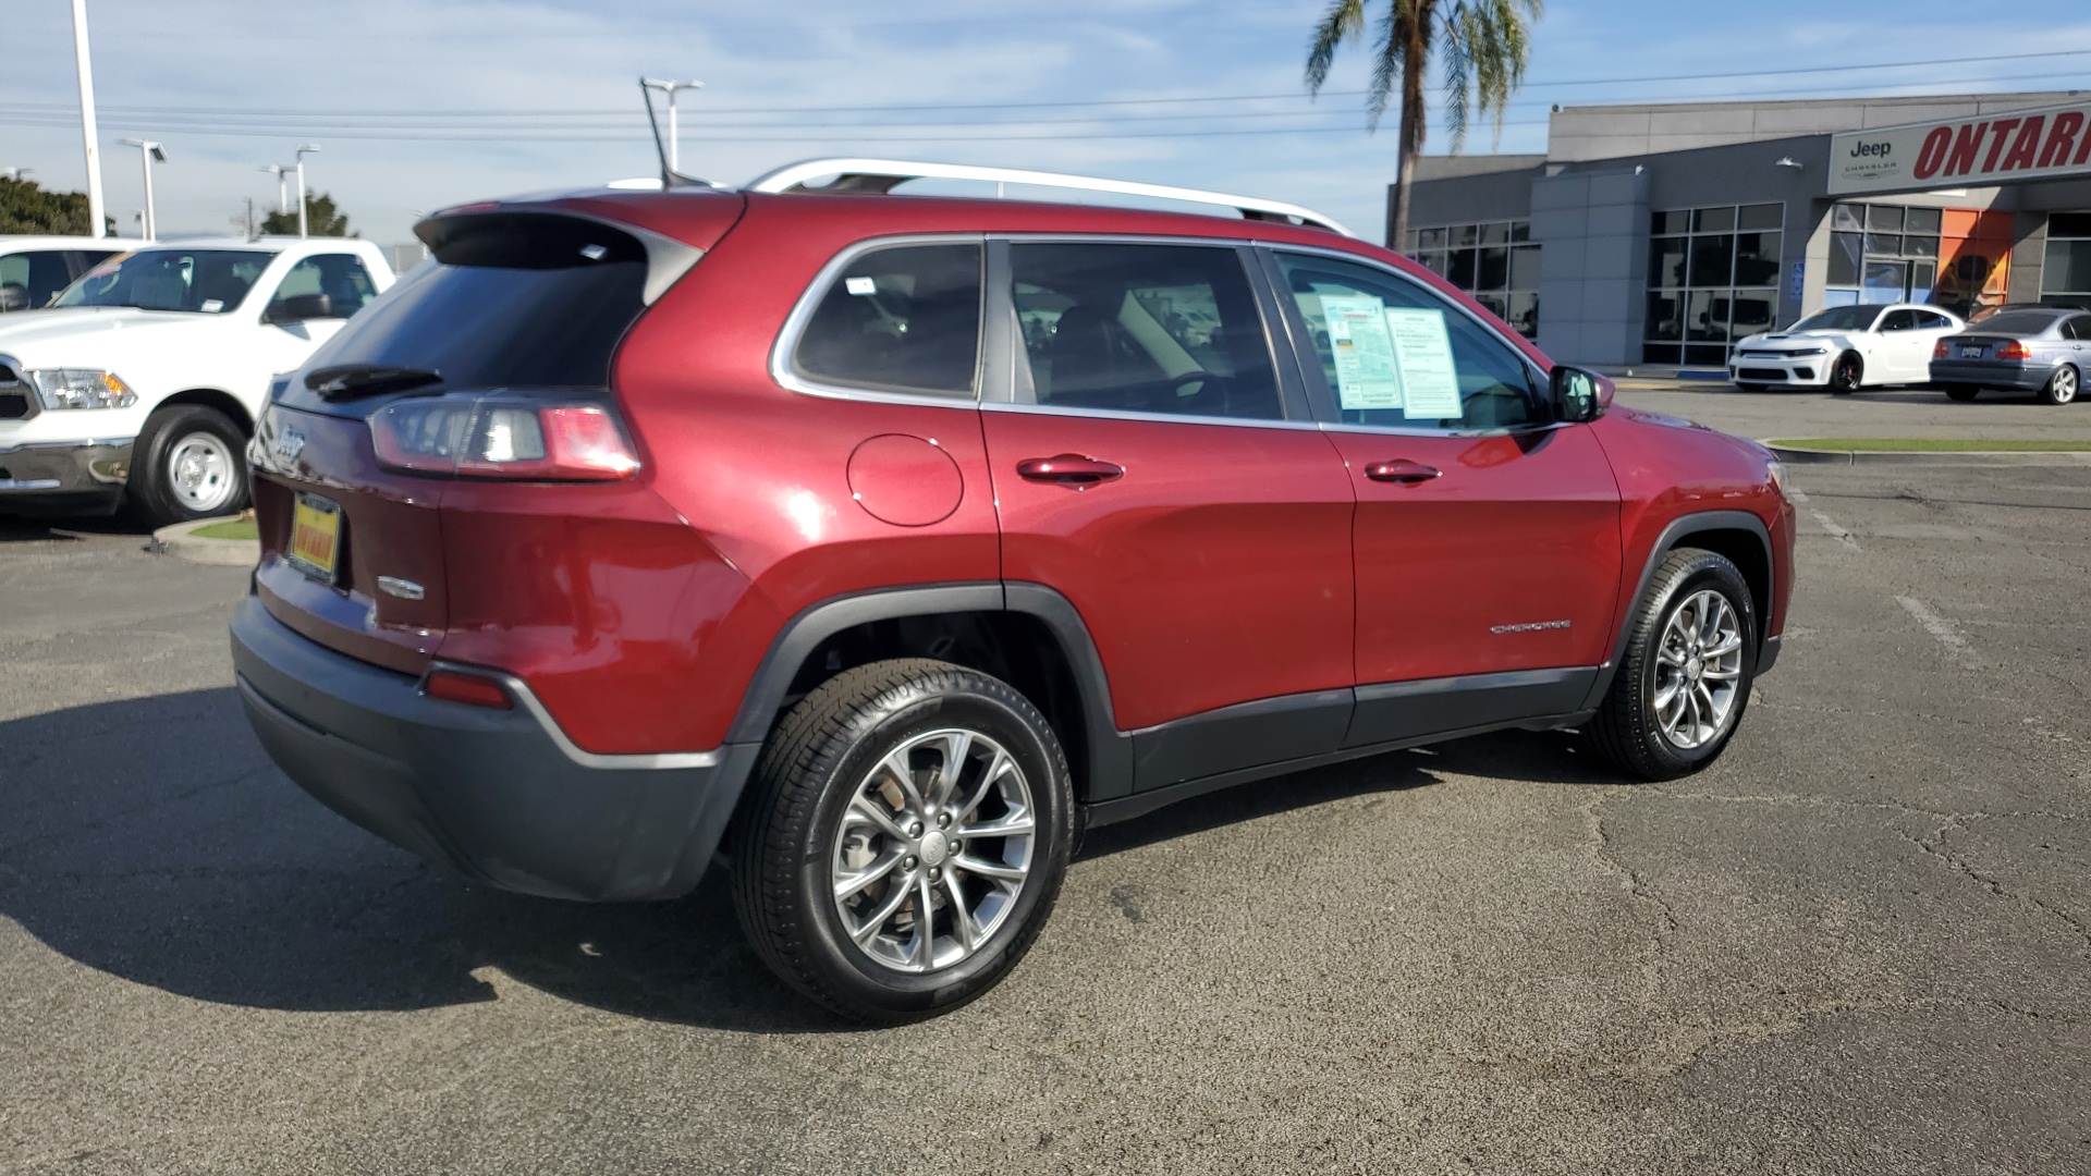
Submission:
POLYGON ((1073 833, 1066 757, 1037 707, 960 665, 876 661, 769 737, 732 839, 734 906, 805 996, 914 1021, 1016 967, 1073 833))

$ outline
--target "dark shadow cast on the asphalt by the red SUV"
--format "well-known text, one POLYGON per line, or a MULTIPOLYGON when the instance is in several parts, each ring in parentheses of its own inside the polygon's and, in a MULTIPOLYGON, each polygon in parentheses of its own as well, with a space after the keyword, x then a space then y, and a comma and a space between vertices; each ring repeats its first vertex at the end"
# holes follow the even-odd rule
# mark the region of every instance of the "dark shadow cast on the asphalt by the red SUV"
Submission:
MULTIPOLYGON (((79 965, 282 1011, 496 1000, 504 977, 621 1015, 755 1034, 847 1032, 746 946, 713 870, 686 900, 493 891, 291 785, 230 688, 0 722, 0 917, 79 965), (487 971, 491 969, 491 971, 487 971)), ((1083 858, 1441 774, 1608 783, 1560 734, 1510 732, 1299 772, 1096 831, 1083 858)), ((4 929, 0 929, 4 935, 4 929)), ((25 973, 27 975, 27 973, 25 973)))

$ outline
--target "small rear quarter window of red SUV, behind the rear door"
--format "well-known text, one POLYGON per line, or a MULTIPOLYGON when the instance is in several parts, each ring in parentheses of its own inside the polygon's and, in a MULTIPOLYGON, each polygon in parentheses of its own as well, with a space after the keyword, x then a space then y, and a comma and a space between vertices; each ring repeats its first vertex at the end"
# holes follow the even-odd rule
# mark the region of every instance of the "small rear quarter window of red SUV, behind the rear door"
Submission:
POLYGON ((849 259, 813 306, 792 370, 820 385, 972 398, 981 245, 889 245, 849 259))

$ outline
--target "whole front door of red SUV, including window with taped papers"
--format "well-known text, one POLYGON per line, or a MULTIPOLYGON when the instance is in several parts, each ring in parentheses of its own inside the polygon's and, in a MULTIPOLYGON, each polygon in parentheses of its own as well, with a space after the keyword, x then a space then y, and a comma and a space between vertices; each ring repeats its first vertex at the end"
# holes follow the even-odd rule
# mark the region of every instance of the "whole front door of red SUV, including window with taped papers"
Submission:
MULTIPOLYGON (((1604 448, 1587 425, 1549 425, 1543 377, 1443 291, 1351 259, 1273 262, 1309 393, 1357 496, 1349 743, 1549 705, 1552 678, 1474 678, 1610 653, 1621 538, 1604 448), (1464 682, 1443 682, 1453 678, 1464 682), (1378 688, 1424 680, 1441 682, 1378 688)), ((1539 714, 1558 711, 1524 718, 1539 714)))

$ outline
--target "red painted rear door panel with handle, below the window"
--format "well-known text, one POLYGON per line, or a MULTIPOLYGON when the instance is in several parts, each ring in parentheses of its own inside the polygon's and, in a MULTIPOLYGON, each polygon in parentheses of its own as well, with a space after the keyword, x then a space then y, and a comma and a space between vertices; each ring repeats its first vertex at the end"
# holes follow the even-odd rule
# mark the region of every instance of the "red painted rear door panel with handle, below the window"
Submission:
POLYGON ((1075 605, 1119 730, 1351 686, 1353 502, 1317 431, 993 406, 981 416, 1002 575, 1075 605), (1016 471, 1062 454, 1125 473, 1081 483, 1016 471))

